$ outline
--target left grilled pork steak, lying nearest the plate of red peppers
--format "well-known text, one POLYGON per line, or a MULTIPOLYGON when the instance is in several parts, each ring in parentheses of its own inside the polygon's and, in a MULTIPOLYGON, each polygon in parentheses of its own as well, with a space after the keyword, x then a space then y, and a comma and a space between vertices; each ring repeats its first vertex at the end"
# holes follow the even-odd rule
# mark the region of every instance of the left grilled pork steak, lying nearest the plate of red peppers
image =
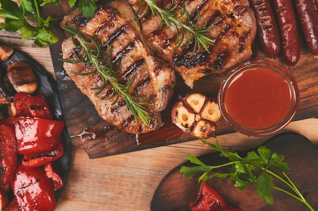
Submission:
MULTIPOLYGON (((135 121, 122 96, 119 96, 117 101, 116 95, 106 100, 111 96, 111 85, 107 85, 100 94, 97 94, 98 90, 93 90, 102 85, 103 80, 99 73, 83 76, 71 72, 90 72, 91 66, 65 62, 63 67, 103 119, 124 132, 140 134, 161 127, 160 111, 166 108, 172 97, 175 73, 164 60, 149 54, 141 40, 134 17, 134 12, 127 2, 117 1, 112 5, 99 7, 92 19, 86 19, 81 14, 73 14, 66 16, 60 25, 72 27, 75 24, 87 37, 97 37, 104 48, 102 56, 105 58, 108 42, 114 68, 119 67, 116 73, 119 81, 124 84, 127 78, 134 78, 128 92, 131 96, 143 96, 134 97, 135 101, 149 103, 144 105, 151 116, 148 119, 149 125, 142 122, 139 117, 138 121, 135 121), (112 105, 113 102, 116 103, 112 105)), ((81 54, 81 50, 74 46, 69 36, 62 43, 63 58, 75 60, 75 52, 81 54)))

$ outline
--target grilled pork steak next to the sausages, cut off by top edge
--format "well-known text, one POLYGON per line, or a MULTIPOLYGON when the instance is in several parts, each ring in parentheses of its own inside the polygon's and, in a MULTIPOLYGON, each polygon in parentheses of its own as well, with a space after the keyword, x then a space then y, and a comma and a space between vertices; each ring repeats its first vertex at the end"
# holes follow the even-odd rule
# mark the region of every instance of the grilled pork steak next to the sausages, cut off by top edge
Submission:
MULTIPOLYGON (((139 17, 144 14, 147 6, 144 1, 141 8, 139 0, 128 2, 136 12, 139 11, 139 17)), ((171 7, 172 3, 182 7, 182 0, 163 0, 155 3, 165 9, 171 7)), ((182 45, 173 50, 177 39, 175 26, 167 27, 164 24, 161 27, 162 19, 158 16, 153 17, 150 9, 140 21, 147 45, 179 72, 187 86, 193 88, 194 80, 210 73, 224 71, 250 58, 251 43, 256 35, 256 20, 247 0, 184 0, 184 4, 192 24, 198 21, 199 11, 200 22, 196 28, 201 28, 205 23, 207 28, 213 26, 207 35, 215 40, 214 46, 208 46, 210 53, 203 47, 200 51, 193 52, 194 43, 182 48, 189 41, 187 32, 184 33, 182 45)), ((180 16, 181 11, 179 8, 174 12, 176 16, 180 16)), ((185 23, 187 18, 183 15, 180 20, 185 23)), ((180 38, 181 29, 178 31, 180 38)))

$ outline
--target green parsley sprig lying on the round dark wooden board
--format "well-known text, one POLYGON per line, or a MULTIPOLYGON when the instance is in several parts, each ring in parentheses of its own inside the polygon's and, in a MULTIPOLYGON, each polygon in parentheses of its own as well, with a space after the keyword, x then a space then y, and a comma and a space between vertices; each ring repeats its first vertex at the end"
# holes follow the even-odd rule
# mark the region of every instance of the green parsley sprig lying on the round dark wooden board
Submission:
POLYGON ((197 157, 187 154, 186 158, 194 163, 197 166, 181 166, 180 173, 187 179, 192 178, 197 174, 202 174, 199 178, 200 182, 205 182, 208 179, 213 177, 219 178, 229 178, 230 180, 235 181, 234 186, 239 190, 244 190, 250 183, 256 186, 256 193, 261 197, 262 200, 265 200, 269 204, 273 204, 274 199, 271 193, 271 190, 276 189, 284 193, 287 193, 296 199, 300 200, 311 210, 314 209, 302 196, 300 191, 294 185, 294 183, 287 176, 287 173, 290 173, 288 163, 283 162, 284 156, 278 155, 275 152, 272 152, 271 149, 266 148, 265 146, 260 146, 255 151, 250 151, 247 153, 246 157, 241 157, 237 152, 233 152, 231 148, 229 150, 224 150, 216 141, 216 144, 210 144, 205 140, 201 140, 204 144, 207 144, 212 149, 215 149, 220 152, 220 156, 227 157, 229 162, 221 165, 206 165, 197 157), (213 170, 216 168, 231 166, 229 173, 215 173, 213 170), (271 167, 271 170, 269 169, 271 167), (261 171, 259 176, 255 176, 253 171, 261 171), (291 193, 287 190, 284 190, 280 187, 276 187, 273 182, 273 177, 279 179, 286 185, 288 185, 294 193, 291 193))

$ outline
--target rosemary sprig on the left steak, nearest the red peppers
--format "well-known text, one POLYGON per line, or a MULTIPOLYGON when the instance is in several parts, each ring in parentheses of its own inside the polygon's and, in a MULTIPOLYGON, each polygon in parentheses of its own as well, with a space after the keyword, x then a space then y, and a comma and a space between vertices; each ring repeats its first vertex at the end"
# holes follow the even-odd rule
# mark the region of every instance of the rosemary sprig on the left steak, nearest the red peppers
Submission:
POLYGON ((98 72, 101 78, 103 79, 103 84, 100 87, 93 88, 94 90, 99 90, 97 95, 102 92, 102 90, 110 83, 112 86, 112 93, 111 95, 106 99, 109 100, 114 95, 116 96, 116 99, 112 103, 114 105, 118 99, 119 96, 121 96, 124 101, 126 102, 126 105, 128 109, 132 112, 132 114, 135 116, 135 121, 137 122, 137 116, 140 117, 140 119, 148 126, 148 118, 151 119, 148 112, 145 110, 144 105, 148 105, 149 103, 145 102, 136 102, 133 98, 140 98, 143 96, 132 96, 128 93, 128 90, 131 86, 131 82, 134 80, 134 77, 129 78, 127 77, 127 81, 125 84, 122 84, 119 82, 117 72, 120 69, 119 67, 116 69, 116 71, 113 70, 113 64, 110 59, 110 49, 108 43, 107 45, 107 57, 101 58, 102 50, 100 48, 100 42, 96 38, 89 37, 88 39, 86 36, 78 31, 75 28, 69 28, 64 27, 65 30, 72 33, 73 43, 77 48, 82 49, 82 55, 78 55, 75 53, 75 56, 77 57, 77 60, 68 60, 68 59, 59 59, 62 62, 68 62, 68 63, 80 63, 84 62, 86 65, 91 65, 91 71, 87 73, 80 73, 76 71, 72 71, 75 74, 79 75, 90 75, 95 72, 98 72), (91 47, 93 46, 93 47, 91 47))

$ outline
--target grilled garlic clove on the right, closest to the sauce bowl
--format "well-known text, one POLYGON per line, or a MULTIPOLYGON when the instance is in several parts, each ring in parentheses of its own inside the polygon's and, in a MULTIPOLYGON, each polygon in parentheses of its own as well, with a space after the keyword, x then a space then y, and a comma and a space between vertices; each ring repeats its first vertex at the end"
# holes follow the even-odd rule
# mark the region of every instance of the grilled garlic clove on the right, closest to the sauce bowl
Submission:
POLYGON ((202 108, 200 115, 204 119, 217 122, 221 118, 218 103, 214 99, 209 98, 202 108))

